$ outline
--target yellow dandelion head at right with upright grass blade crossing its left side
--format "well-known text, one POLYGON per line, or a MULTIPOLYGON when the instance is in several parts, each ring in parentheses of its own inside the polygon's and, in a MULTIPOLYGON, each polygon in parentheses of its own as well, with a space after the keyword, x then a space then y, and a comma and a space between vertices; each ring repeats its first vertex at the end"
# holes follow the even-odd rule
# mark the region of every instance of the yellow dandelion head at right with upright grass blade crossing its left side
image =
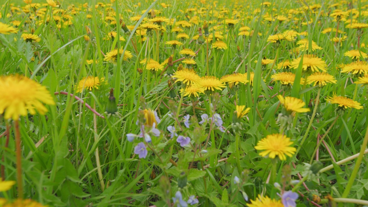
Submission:
MULTIPOLYGON (((300 60, 301 60, 301 57, 294 59, 290 63, 290 67, 297 69, 299 67, 300 60)), ((319 57, 316 57, 314 55, 304 55, 303 56, 303 70, 304 71, 311 70, 312 72, 314 72, 314 71, 322 70, 326 72, 327 71, 326 67, 327 67, 327 64, 319 57)))

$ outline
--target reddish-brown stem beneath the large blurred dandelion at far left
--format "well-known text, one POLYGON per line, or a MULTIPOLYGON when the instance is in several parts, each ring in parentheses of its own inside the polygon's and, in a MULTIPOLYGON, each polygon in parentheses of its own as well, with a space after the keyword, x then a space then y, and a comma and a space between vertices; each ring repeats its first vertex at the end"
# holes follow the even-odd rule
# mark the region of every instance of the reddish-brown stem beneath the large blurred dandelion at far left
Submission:
POLYGON ((23 182, 22 182, 22 152, 21 152, 21 134, 19 130, 18 119, 14 120, 15 126, 15 146, 17 148, 17 181, 18 181, 18 198, 23 199, 23 182))

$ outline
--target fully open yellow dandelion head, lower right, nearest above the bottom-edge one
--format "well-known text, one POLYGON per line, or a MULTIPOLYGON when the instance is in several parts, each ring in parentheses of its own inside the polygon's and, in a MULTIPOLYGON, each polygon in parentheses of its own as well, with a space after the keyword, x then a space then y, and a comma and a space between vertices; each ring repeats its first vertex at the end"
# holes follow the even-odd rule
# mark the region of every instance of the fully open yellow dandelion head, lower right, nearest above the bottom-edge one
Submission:
POLYGON ((290 138, 283 134, 270 134, 266 138, 262 138, 258 141, 257 145, 254 147, 256 150, 265 150, 259 152, 259 155, 275 159, 276 155, 280 160, 286 160, 286 156, 292 157, 296 152, 295 147, 291 147, 294 143, 290 141, 290 138))

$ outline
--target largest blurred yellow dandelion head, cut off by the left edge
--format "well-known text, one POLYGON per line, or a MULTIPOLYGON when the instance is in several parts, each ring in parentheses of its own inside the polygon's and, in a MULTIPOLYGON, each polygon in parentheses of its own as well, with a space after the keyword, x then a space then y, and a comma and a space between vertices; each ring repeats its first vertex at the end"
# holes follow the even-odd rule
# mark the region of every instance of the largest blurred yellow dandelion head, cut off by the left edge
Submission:
POLYGON ((35 115, 36 110, 44 115, 47 108, 43 103, 55 104, 45 86, 24 76, 0 77, 0 94, 0 114, 5 111, 5 119, 26 116, 27 110, 31 115, 35 115))

